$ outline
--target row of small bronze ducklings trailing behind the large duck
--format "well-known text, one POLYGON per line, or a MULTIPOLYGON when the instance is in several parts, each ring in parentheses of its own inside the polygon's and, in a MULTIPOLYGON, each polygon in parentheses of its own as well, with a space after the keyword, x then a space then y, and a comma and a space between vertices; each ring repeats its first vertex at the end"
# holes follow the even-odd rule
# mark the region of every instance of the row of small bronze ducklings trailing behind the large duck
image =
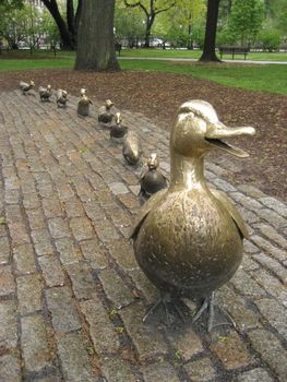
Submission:
MULTIPOLYGON (((24 81, 20 82, 20 89, 23 95, 28 94, 34 86, 34 81, 29 81, 28 83, 24 81)), ((59 108, 67 107, 67 91, 59 88, 52 92, 51 85, 49 84, 47 87, 39 86, 38 94, 40 102, 50 102, 50 97, 55 94, 57 106, 59 108)), ((91 105, 93 105, 93 103, 86 94, 86 88, 81 88, 76 108, 77 115, 81 117, 89 116, 91 105)), ((166 188, 168 180, 159 170, 159 160, 156 153, 151 154, 150 158, 142 163, 143 150, 139 135, 122 123, 122 116, 119 111, 113 111, 113 106, 115 104, 110 99, 105 100, 104 105, 98 109, 98 122, 101 128, 109 130, 110 140, 112 142, 122 144, 122 155, 127 164, 131 166, 139 166, 140 164, 146 165, 139 180, 139 196, 143 203, 152 194, 166 188)))

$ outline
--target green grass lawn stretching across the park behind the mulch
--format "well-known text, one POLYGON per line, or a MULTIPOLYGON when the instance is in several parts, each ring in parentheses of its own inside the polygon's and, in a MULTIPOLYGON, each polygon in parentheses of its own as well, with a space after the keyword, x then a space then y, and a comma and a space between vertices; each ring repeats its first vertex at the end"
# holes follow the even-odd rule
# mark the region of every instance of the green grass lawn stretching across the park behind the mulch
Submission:
MULTIPOLYGON (((131 51, 131 50, 130 50, 131 51)), ((156 50, 156 49, 139 49, 132 52, 139 53, 139 57, 144 57, 145 51, 155 55, 174 53, 174 55, 200 55, 199 51, 179 51, 179 50, 156 50), (142 56, 141 56, 142 55, 142 56)), ((122 51, 123 57, 128 57, 128 50, 122 51)), ((53 58, 52 52, 35 53, 29 56, 29 52, 13 52, 0 56, 0 71, 5 70, 29 70, 29 69, 60 69, 73 68, 74 52, 58 52, 53 58), (24 55, 25 53, 25 55, 24 55), (13 59, 14 57, 14 59, 13 59), (11 59, 10 59, 11 58, 11 59)), ((263 53, 262 53, 263 55, 263 53)), ((273 53, 265 53, 273 55, 273 53)), ((275 53, 274 53, 275 55, 275 53)), ((285 55, 285 53, 277 53, 285 55)), ((176 57, 176 56, 175 56, 176 57)), ((177 56, 179 57, 179 56, 177 56)), ((270 59, 270 58, 266 58, 270 59)), ((286 53, 287 60, 287 53, 286 53)), ((287 64, 237 64, 237 63, 198 63, 198 62, 172 62, 158 60, 120 60, 120 65, 124 70, 143 70, 143 71, 160 71, 193 75, 211 80, 219 84, 232 87, 242 87, 246 89, 272 92, 287 95, 287 64)))

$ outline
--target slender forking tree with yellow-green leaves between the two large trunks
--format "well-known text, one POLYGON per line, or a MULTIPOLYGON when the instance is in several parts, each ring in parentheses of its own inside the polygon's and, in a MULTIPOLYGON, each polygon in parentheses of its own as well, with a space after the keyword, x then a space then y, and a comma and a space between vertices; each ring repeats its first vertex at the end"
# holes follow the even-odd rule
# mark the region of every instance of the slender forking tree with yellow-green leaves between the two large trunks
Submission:
POLYGON ((125 7, 135 8, 139 7, 145 14, 145 38, 144 46, 150 48, 151 32, 157 14, 166 12, 176 5, 174 0, 142 0, 142 1, 128 1, 123 0, 125 7))

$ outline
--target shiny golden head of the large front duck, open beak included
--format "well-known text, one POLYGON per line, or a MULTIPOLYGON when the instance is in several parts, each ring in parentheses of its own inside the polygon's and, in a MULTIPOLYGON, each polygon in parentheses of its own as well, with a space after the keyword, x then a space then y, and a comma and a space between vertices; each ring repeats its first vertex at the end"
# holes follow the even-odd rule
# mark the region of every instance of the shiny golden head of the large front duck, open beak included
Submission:
POLYGON ((214 147, 238 157, 248 153, 222 140, 239 135, 254 135, 251 127, 228 128, 218 120, 213 106, 205 100, 193 99, 182 104, 170 133, 170 146, 180 155, 200 157, 214 147))

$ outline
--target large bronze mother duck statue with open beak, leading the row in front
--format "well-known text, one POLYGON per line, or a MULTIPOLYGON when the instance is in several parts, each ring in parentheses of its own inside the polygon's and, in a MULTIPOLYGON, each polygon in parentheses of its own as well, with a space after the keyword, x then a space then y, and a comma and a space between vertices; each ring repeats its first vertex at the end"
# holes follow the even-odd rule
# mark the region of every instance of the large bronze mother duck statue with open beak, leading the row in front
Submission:
POLYGON ((140 267, 160 291, 144 320, 159 305, 176 308, 184 297, 202 302, 193 321, 207 309, 208 332, 216 326, 214 291, 236 273, 249 234, 226 194, 207 186, 203 162, 214 147, 247 157, 222 139, 254 134, 251 127, 223 124, 204 100, 180 106, 170 132, 169 187, 142 206, 131 234, 140 267))

